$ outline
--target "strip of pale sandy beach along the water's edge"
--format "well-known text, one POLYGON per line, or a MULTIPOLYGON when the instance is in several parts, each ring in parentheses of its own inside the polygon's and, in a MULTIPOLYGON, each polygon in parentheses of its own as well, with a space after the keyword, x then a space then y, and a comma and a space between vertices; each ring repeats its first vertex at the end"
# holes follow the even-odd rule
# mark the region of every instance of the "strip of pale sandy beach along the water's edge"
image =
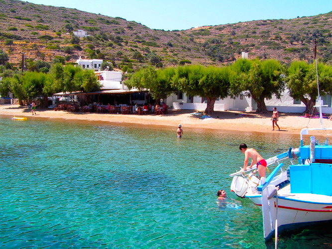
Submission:
MULTIPOLYGON (((214 129, 227 131, 247 132, 273 132, 299 134, 302 128, 320 127, 319 119, 301 117, 301 114, 280 113, 277 127, 272 130, 271 115, 246 113, 239 111, 215 112, 212 119, 201 119, 203 114, 191 110, 170 110, 167 115, 123 115, 108 113, 71 113, 66 111, 54 111, 53 109, 36 109, 36 116, 32 116, 31 110, 19 105, 0 105, 0 115, 11 117, 29 117, 29 119, 64 119, 90 122, 110 122, 111 124, 134 124, 134 125, 158 125, 177 127, 182 124, 183 128, 214 129), (193 115, 196 113, 196 115, 193 115)), ((332 121, 323 120, 324 127, 332 127, 332 121)), ((319 134, 319 133, 317 133, 319 134)))

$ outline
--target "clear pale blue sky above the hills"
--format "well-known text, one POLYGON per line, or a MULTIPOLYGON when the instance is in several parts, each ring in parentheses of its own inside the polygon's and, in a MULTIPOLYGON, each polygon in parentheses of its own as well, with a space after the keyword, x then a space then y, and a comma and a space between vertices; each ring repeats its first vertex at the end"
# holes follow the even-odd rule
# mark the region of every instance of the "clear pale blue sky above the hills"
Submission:
POLYGON ((155 29, 189 29, 261 19, 290 19, 332 11, 332 0, 28 0, 122 17, 155 29))

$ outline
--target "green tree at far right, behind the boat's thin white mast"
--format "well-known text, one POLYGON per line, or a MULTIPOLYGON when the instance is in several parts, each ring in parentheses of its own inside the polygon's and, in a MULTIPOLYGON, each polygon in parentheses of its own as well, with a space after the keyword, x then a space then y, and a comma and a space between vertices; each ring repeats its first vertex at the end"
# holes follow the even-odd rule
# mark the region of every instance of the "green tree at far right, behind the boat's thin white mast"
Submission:
MULTIPOLYGON (((321 95, 332 93, 332 67, 318 65, 319 86, 321 95)), ((316 64, 305 61, 294 61, 287 69, 287 87, 290 96, 301 100, 306 105, 306 113, 315 113, 314 107, 318 96, 316 64)))

